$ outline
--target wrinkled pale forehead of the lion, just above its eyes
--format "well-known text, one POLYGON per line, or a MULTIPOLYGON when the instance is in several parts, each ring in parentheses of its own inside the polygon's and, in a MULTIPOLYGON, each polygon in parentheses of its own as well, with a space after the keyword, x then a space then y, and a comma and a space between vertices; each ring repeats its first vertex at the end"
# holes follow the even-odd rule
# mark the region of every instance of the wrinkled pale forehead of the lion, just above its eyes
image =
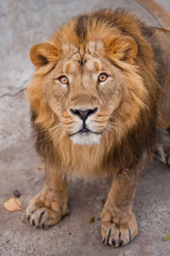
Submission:
POLYGON ((63 71, 65 73, 75 73, 79 70, 98 72, 101 69, 101 56, 104 46, 101 42, 88 42, 80 45, 64 44, 62 52, 65 55, 63 71))

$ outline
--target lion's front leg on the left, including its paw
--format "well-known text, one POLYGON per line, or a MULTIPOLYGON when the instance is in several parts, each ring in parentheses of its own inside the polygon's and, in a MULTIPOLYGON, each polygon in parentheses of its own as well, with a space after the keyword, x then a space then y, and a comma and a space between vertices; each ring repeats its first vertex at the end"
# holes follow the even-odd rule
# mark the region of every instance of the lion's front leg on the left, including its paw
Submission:
POLYGON ((68 213, 67 180, 57 174, 56 169, 45 170, 43 189, 30 200, 26 217, 31 225, 47 228, 59 222, 68 213))

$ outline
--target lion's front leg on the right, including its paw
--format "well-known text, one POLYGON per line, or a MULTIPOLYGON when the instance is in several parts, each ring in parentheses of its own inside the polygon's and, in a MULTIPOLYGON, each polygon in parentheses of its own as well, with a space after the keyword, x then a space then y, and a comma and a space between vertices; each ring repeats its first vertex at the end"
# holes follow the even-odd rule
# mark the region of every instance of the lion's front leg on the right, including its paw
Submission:
POLYGON ((138 233, 132 212, 137 178, 131 172, 126 170, 116 175, 101 214, 102 241, 113 247, 128 244, 138 233))

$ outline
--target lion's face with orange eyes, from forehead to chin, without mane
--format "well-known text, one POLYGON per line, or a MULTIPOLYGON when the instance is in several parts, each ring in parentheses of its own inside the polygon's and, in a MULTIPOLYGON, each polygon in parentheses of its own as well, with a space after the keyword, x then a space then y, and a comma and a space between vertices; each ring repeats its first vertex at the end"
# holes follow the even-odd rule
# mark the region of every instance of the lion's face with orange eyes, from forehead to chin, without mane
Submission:
POLYGON ((99 143, 112 130, 109 120, 121 102, 124 76, 104 57, 101 43, 62 49, 64 56, 44 82, 46 99, 74 144, 99 143))

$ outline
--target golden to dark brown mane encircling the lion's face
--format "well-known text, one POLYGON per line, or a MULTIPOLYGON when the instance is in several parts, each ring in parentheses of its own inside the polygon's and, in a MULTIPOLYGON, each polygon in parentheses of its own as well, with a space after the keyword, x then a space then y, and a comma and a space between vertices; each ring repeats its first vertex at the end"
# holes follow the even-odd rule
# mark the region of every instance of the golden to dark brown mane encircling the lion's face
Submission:
MULTIPOLYGON (((144 33, 147 33, 147 27, 130 12, 121 9, 114 12, 99 10, 74 18, 46 41, 48 52, 45 49, 39 52, 40 63, 41 56, 44 55, 47 56, 46 63, 37 67, 27 93, 34 131, 37 132, 36 148, 48 165, 50 163, 58 166, 61 172, 62 166, 71 168, 72 176, 80 175, 87 180, 94 177, 96 172, 103 177, 108 172, 114 172, 109 166, 134 168, 142 160, 144 153, 152 159, 156 145, 159 116, 157 105, 161 89, 156 77, 157 66, 153 50, 145 40, 144 33), (130 36, 136 41, 138 52, 134 61, 123 61, 125 55, 116 52, 116 46, 113 48, 111 45, 111 42, 122 36, 130 36), (69 137, 61 134, 53 137, 53 130, 46 131, 58 124, 58 117, 48 105, 42 84, 47 74, 62 58, 63 45, 74 44, 81 47, 89 41, 102 42, 105 45, 104 57, 124 71, 126 86, 124 99, 114 117, 111 117, 114 133, 108 133, 99 145, 82 146, 73 145, 69 137), (115 120, 119 120, 122 125, 115 120)), ((123 46, 125 50, 127 45, 125 43, 123 46)))

